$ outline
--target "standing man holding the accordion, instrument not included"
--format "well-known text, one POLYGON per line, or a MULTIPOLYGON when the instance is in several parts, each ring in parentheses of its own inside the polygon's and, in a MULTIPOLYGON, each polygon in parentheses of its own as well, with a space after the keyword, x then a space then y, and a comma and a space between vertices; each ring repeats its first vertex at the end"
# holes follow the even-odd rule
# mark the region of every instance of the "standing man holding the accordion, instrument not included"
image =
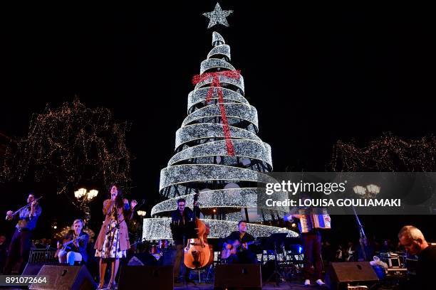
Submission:
MULTIPOLYGON (((302 198, 308 198, 306 196, 302 196, 302 198)), ((284 220, 286 222, 293 222, 294 218, 300 220, 299 227, 302 228, 303 224, 301 220, 306 218, 306 220, 310 220, 309 215, 313 215, 313 210, 301 210, 303 214, 294 214, 296 213, 296 209, 291 210, 291 213, 285 215, 284 220)), ((326 218, 328 222, 330 222, 330 217, 326 218)), ((303 239, 303 276, 304 276, 304 286, 308 286, 311 284, 311 274, 313 272, 313 278, 316 280, 316 284, 324 285, 322 278, 322 257, 321 257, 321 232, 318 228, 313 227, 308 232, 304 232, 301 230, 301 238, 303 239), (313 271, 312 271, 313 269, 313 271)))

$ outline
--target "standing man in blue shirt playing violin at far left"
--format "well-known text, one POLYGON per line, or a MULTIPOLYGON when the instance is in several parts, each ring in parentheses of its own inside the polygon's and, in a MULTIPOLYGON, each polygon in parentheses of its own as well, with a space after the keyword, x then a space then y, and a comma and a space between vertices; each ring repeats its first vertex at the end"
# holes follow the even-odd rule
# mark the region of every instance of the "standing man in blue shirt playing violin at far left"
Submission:
POLYGON ((26 207, 14 214, 12 210, 6 213, 6 220, 18 220, 14 236, 9 245, 8 257, 4 267, 5 274, 11 274, 12 267, 19 263, 19 273, 24 269, 25 262, 28 261, 28 254, 31 248, 31 235, 36 227, 38 217, 41 215, 41 206, 35 200, 33 192, 29 193, 26 207))

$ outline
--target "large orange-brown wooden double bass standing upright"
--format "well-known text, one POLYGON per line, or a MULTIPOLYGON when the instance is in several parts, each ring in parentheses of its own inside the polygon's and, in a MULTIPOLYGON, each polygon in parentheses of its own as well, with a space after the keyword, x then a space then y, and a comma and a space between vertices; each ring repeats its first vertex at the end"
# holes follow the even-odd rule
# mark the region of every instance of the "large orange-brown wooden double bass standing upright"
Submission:
MULTIPOLYGON (((198 200, 198 193, 194 194, 194 205, 198 200)), ((190 269, 202 269, 212 264, 214 260, 212 245, 207 243, 207 235, 209 235, 209 226, 202 220, 197 218, 196 210, 198 207, 194 206, 195 217, 195 231, 197 237, 189 239, 187 246, 184 249, 184 263, 190 269)))

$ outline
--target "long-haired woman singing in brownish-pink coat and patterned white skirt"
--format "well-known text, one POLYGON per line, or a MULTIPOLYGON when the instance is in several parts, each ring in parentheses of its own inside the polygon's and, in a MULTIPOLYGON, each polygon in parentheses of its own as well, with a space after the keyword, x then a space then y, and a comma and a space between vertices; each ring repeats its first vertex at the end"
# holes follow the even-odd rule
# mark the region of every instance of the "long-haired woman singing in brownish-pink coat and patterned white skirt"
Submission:
POLYGON ((110 186, 110 199, 103 202, 103 215, 105 221, 101 226, 97 241, 95 242, 95 257, 100 257, 100 284, 102 289, 105 284, 105 272, 108 262, 111 262, 110 287, 115 286, 115 276, 120 266, 120 258, 126 256, 130 249, 128 226, 125 222, 133 217, 133 208, 136 200, 129 201, 123 198, 123 192, 116 184, 110 186))

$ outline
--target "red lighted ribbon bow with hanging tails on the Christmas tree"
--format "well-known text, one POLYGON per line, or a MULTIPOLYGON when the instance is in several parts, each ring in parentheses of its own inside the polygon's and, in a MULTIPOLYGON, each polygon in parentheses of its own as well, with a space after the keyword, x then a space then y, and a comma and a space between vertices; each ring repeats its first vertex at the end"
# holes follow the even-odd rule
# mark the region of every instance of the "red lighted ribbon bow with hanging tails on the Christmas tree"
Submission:
POLYGON ((224 98, 222 95, 221 82, 219 82, 220 76, 230 77, 239 80, 239 77, 241 76, 241 70, 224 70, 222 72, 194 75, 194 77, 192 77, 192 84, 197 85, 197 83, 199 82, 212 79, 212 84, 209 87, 209 91, 207 91, 206 103, 210 102, 212 96, 214 95, 214 89, 216 88, 218 94, 219 112, 221 112, 222 125, 224 129, 224 139, 226 140, 227 154, 229 154, 230 156, 234 156, 234 146, 232 143, 232 139, 230 139, 229 121, 227 120, 226 109, 224 108, 224 98))

